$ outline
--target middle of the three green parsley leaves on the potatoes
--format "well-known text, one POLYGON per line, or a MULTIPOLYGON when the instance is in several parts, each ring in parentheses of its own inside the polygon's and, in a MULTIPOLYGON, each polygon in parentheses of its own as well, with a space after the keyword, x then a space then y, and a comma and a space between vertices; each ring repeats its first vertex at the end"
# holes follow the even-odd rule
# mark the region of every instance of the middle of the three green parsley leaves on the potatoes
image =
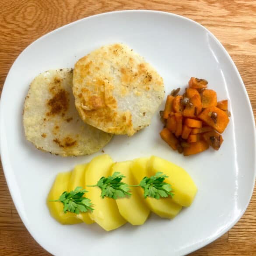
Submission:
POLYGON ((101 190, 101 197, 109 197, 113 199, 131 196, 129 185, 121 182, 125 178, 120 172, 114 172, 112 176, 102 177, 95 186, 101 190))

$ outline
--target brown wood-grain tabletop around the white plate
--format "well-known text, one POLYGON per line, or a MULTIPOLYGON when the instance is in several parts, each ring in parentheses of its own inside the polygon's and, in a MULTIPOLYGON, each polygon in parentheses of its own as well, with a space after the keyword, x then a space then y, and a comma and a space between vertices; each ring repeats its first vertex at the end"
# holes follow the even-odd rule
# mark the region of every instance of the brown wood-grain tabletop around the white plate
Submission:
MULTIPOLYGON (((77 19, 126 9, 172 12, 208 28, 238 67, 256 115, 255 0, 0 0, 0 92, 12 63, 35 39, 77 19)), ((21 222, 0 167, 0 256, 49 255, 21 222)), ((221 238, 191 254, 247 255, 256 255, 256 189, 240 221, 221 238)))

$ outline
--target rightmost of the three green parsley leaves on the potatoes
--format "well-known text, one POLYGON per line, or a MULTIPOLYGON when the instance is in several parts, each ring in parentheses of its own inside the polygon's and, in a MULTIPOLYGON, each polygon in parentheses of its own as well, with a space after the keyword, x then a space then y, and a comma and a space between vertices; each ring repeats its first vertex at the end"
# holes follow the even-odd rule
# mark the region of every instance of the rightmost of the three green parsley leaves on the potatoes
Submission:
POLYGON ((156 199, 168 196, 173 197, 172 187, 164 182, 165 178, 168 178, 168 176, 162 172, 157 172, 151 177, 144 177, 140 182, 140 186, 144 189, 144 197, 147 198, 149 196, 156 199))

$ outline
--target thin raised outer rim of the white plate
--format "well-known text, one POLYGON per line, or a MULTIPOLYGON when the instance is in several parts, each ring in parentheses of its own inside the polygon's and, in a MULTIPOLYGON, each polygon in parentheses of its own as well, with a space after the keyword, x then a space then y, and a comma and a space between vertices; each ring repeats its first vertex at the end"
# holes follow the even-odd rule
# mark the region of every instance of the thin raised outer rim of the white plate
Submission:
MULTIPOLYGON (((116 13, 133 13, 133 12, 136 12, 136 13, 151 13, 151 14, 164 14, 164 15, 170 15, 170 16, 173 16, 173 17, 176 17, 176 18, 179 18, 179 19, 183 19, 183 20, 186 20, 186 21, 189 21, 190 23, 192 22, 194 25, 196 26, 199 26, 200 28, 203 28, 203 30, 205 30, 207 33, 209 33, 214 41, 218 44, 219 47, 221 47, 221 50, 225 53, 225 56, 228 58, 228 61, 231 63, 232 65, 232 68, 234 68, 235 70, 235 73, 238 75, 238 79, 239 79, 239 83, 242 84, 242 90, 245 94, 245 98, 246 98, 246 101, 247 101, 247 105, 249 106, 249 109, 250 109, 250 119, 252 120, 252 124, 254 124, 254 128, 255 128, 255 118, 254 118, 254 115, 253 115, 253 110, 252 110, 252 105, 251 105, 251 102, 249 100, 249 95, 246 91, 246 88, 245 88, 245 84, 243 83, 242 81, 242 77, 238 71, 238 68, 235 66, 235 63, 234 61, 232 60, 231 56, 229 55, 228 51, 224 48, 224 46, 221 44, 221 42, 217 39, 217 37, 212 33, 210 32, 207 28, 205 28, 203 25, 201 25, 200 23, 190 19, 190 18, 187 18, 187 17, 184 17, 182 15, 179 15, 179 14, 174 14, 174 13, 171 13, 171 12, 167 12, 167 11, 155 11, 155 10, 135 10, 135 9, 131 9, 131 10, 122 10, 122 11, 110 11, 110 12, 103 12, 103 13, 100 13, 100 14, 95 14, 95 15, 91 15, 91 16, 87 16, 87 17, 84 17, 84 18, 81 18, 81 19, 78 19, 76 21, 72 21, 66 25, 63 25, 59 28, 56 28, 44 35, 42 35, 41 37, 39 37, 38 39, 36 39, 35 41, 33 41, 32 43, 30 43, 25 49, 23 49, 21 51, 21 53, 17 56, 17 58, 14 60, 13 64, 11 65, 11 68, 9 69, 8 71, 8 74, 6 76, 6 79, 4 81, 4 85, 3 85, 3 89, 2 89, 2 93, 1 93, 1 96, 0 96, 0 114, 1 112, 3 111, 4 109, 4 106, 3 106, 3 100, 1 100, 2 98, 4 98, 3 95, 6 94, 6 91, 7 91, 7 81, 8 81, 8 78, 10 76, 10 71, 12 70, 12 67, 14 66, 14 64, 16 63, 16 61, 19 59, 19 57, 23 54, 26 53, 26 51, 28 50, 28 48, 30 48, 33 44, 35 44, 36 42, 38 42, 39 40, 41 39, 45 39, 46 37, 48 37, 49 35, 55 33, 55 32, 58 32, 62 29, 65 29, 67 28, 68 26, 71 26, 75 23, 79 23, 79 22, 82 22, 84 20, 88 20, 90 18, 95 18, 95 17, 98 17, 98 16, 105 16, 105 15, 111 15, 111 14, 116 14, 116 13)), ((53 254, 53 252, 51 252, 51 249, 49 249, 48 247, 49 246, 46 246, 46 245, 42 245, 41 242, 39 242, 37 240, 37 235, 35 234, 35 232, 33 232, 32 230, 30 230, 30 227, 29 227, 29 222, 28 220, 25 218, 24 216, 24 213, 23 211, 21 210, 21 205, 17 203, 17 193, 15 193, 16 195, 14 196, 14 185, 11 186, 11 183, 17 183, 16 180, 15 180, 15 175, 13 172, 7 172, 5 170, 8 169, 7 167, 7 158, 5 157, 5 153, 4 153, 4 150, 3 150, 3 137, 2 136, 2 127, 3 127, 3 124, 2 124, 2 121, 3 121, 3 117, 0 117, 0 157, 1 157, 1 161, 2 161, 2 167, 3 167, 3 172, 4 172, 4 176, 5 176, 5 179, 6 179, 6 182, 7 182, 7 186, 8 186, 8 189, 9 189, 9 192, 11 194, 11 198, 14 202, 14 205, 18 211, 18 214, 19 216, 21 217, 21 220, 23 222, 23 224, 25 225, 26 229, 28 230, 28 232, 30 233, 30 235, 32 235, 32 237, 35 239, 35 241, 43 248, 45 249, 46 251, 48 251, 49 253, 53 254), (11 178, 11 177, 14 177, 11 178), (11 189, 12 188, 12 189, 11 189)), ((254 151, 256 151, 256 129, 253 130, 253 141, 254 141, 254 151)), ((6 139, 6 138, 4 138, 6 139)), ((255 186, 255 179, 256 179, 256 156, 254 155, 254 169, 253 169, 253 172, 254 172, 254 182, 252 182, 252 189, 251 189, 251 193, 250 193, 250 196, 249 196, 249 200, 248 202, 246 203, 246 207, 240 212, 240 214, 238 214, 238 216, 236 217, 236 219, 234 219, 229 225, 228 227, 225 227, 222 231, 220 231, 219 233, 217 233, 217 235, 214 235, 212 236, 210 239, 204 241, 204 242, 201 242, 200 245, 192 245, 192 246, 189 246, 188 249, 186 249, 186 252, 185 254, 181 254, 180 256, 183 256, 183 255, 186 255, 188 253, 191 253, 191 252, 194 252, 198 249, 201 249, 203 248, 204 246, 210 244, 211 242, 215 241, 216 239, 218 239, 219 237, 221 237, 221 235, 223 235, 225 232, 227 232, 228 230, 230 230, 238 221, 239 219, 242 217, 242 215, 245 213, 245 210, 247 209, 250 201, 251 201, 251 198, 252 198, 252 193, 253 193, 253 189, 254 189, 254 186, 255 186)), ((54 255, 54 254, 53 254, 54 255)))

